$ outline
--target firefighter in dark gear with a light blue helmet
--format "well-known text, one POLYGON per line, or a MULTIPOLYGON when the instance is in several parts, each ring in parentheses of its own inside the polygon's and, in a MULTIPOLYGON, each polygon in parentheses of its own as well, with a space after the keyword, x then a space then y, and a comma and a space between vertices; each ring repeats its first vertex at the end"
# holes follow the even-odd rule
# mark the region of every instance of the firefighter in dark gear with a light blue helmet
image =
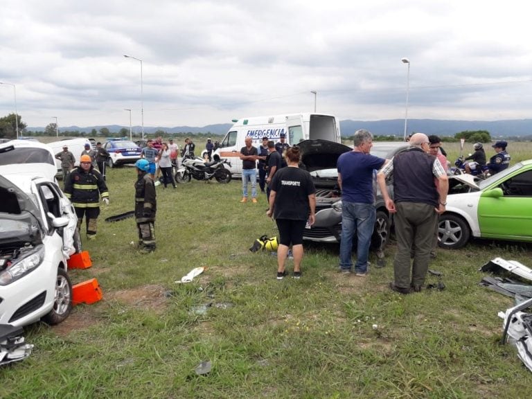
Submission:
POLYGON ((150 163, 147 160, 139 159, 135 166, 138 177, 135 183, 135 221, 139 230, 139 249, 141 254, 149 254, 155 250, 155 185, 148 173, 150 163))

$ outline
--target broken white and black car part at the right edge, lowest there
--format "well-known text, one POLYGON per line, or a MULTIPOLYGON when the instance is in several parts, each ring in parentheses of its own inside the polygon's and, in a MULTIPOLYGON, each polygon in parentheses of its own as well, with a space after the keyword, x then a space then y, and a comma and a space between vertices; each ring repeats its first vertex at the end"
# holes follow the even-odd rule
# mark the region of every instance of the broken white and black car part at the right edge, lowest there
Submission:
POLYGON ((515 345, 517 357, 529 371, 532 371, 532 314, 524 313, 522 310, 531 305, 532 299, 529 299, 498 314, 504 319, 501 344, 506 344, 508 341, 515 345))

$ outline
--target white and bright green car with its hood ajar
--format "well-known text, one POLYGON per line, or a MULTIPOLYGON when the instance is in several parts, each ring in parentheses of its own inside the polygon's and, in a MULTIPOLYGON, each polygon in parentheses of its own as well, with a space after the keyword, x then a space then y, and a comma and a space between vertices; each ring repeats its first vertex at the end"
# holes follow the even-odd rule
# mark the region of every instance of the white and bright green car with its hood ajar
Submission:
POLYGON ((484 180, 450 178, 438 244, 458 249, 471 237, 532 242, 532 159, 484 180))

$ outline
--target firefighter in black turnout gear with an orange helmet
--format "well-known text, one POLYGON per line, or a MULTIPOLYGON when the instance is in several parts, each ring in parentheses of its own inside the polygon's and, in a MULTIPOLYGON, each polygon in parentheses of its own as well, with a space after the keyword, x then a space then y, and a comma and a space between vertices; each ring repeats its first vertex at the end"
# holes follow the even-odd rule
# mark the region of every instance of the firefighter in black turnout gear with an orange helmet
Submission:
POLYGON ((109 191, 103 176, 92 165, 89 155, 82 155, 80 166, 74 168, 64 182, 64 194, 72 202, 81 231, 83 216, 87 218, 87 238, 96 238, 96 221, 100 215, 100 198, 109 205, 109 191))

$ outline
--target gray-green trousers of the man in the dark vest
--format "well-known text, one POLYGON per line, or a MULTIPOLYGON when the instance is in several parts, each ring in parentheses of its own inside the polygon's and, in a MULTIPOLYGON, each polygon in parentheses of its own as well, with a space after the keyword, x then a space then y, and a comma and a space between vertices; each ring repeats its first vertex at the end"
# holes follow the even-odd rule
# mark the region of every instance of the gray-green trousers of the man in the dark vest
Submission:
POLYGON ((429 269, 438 213, 434 205, 421 202, 398 202, 396 209, 394 220, 397 252, 393 260, 395 284, 400 288, 422 287, 429 269), (411 251, 414 253, 412 264, 411 251))

